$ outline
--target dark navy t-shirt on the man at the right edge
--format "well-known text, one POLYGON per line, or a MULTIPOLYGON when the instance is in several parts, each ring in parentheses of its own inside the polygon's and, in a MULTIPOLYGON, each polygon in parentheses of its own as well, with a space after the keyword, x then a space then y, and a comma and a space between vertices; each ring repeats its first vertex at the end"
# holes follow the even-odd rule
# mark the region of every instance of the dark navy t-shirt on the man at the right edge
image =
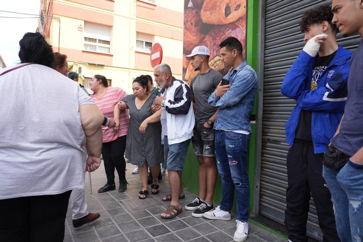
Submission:
POLYGON ((363 147, 363 41, 355 50, 350 61, 348 98, 339 134, 332 143, 340 151, 353 156, 363 147))

